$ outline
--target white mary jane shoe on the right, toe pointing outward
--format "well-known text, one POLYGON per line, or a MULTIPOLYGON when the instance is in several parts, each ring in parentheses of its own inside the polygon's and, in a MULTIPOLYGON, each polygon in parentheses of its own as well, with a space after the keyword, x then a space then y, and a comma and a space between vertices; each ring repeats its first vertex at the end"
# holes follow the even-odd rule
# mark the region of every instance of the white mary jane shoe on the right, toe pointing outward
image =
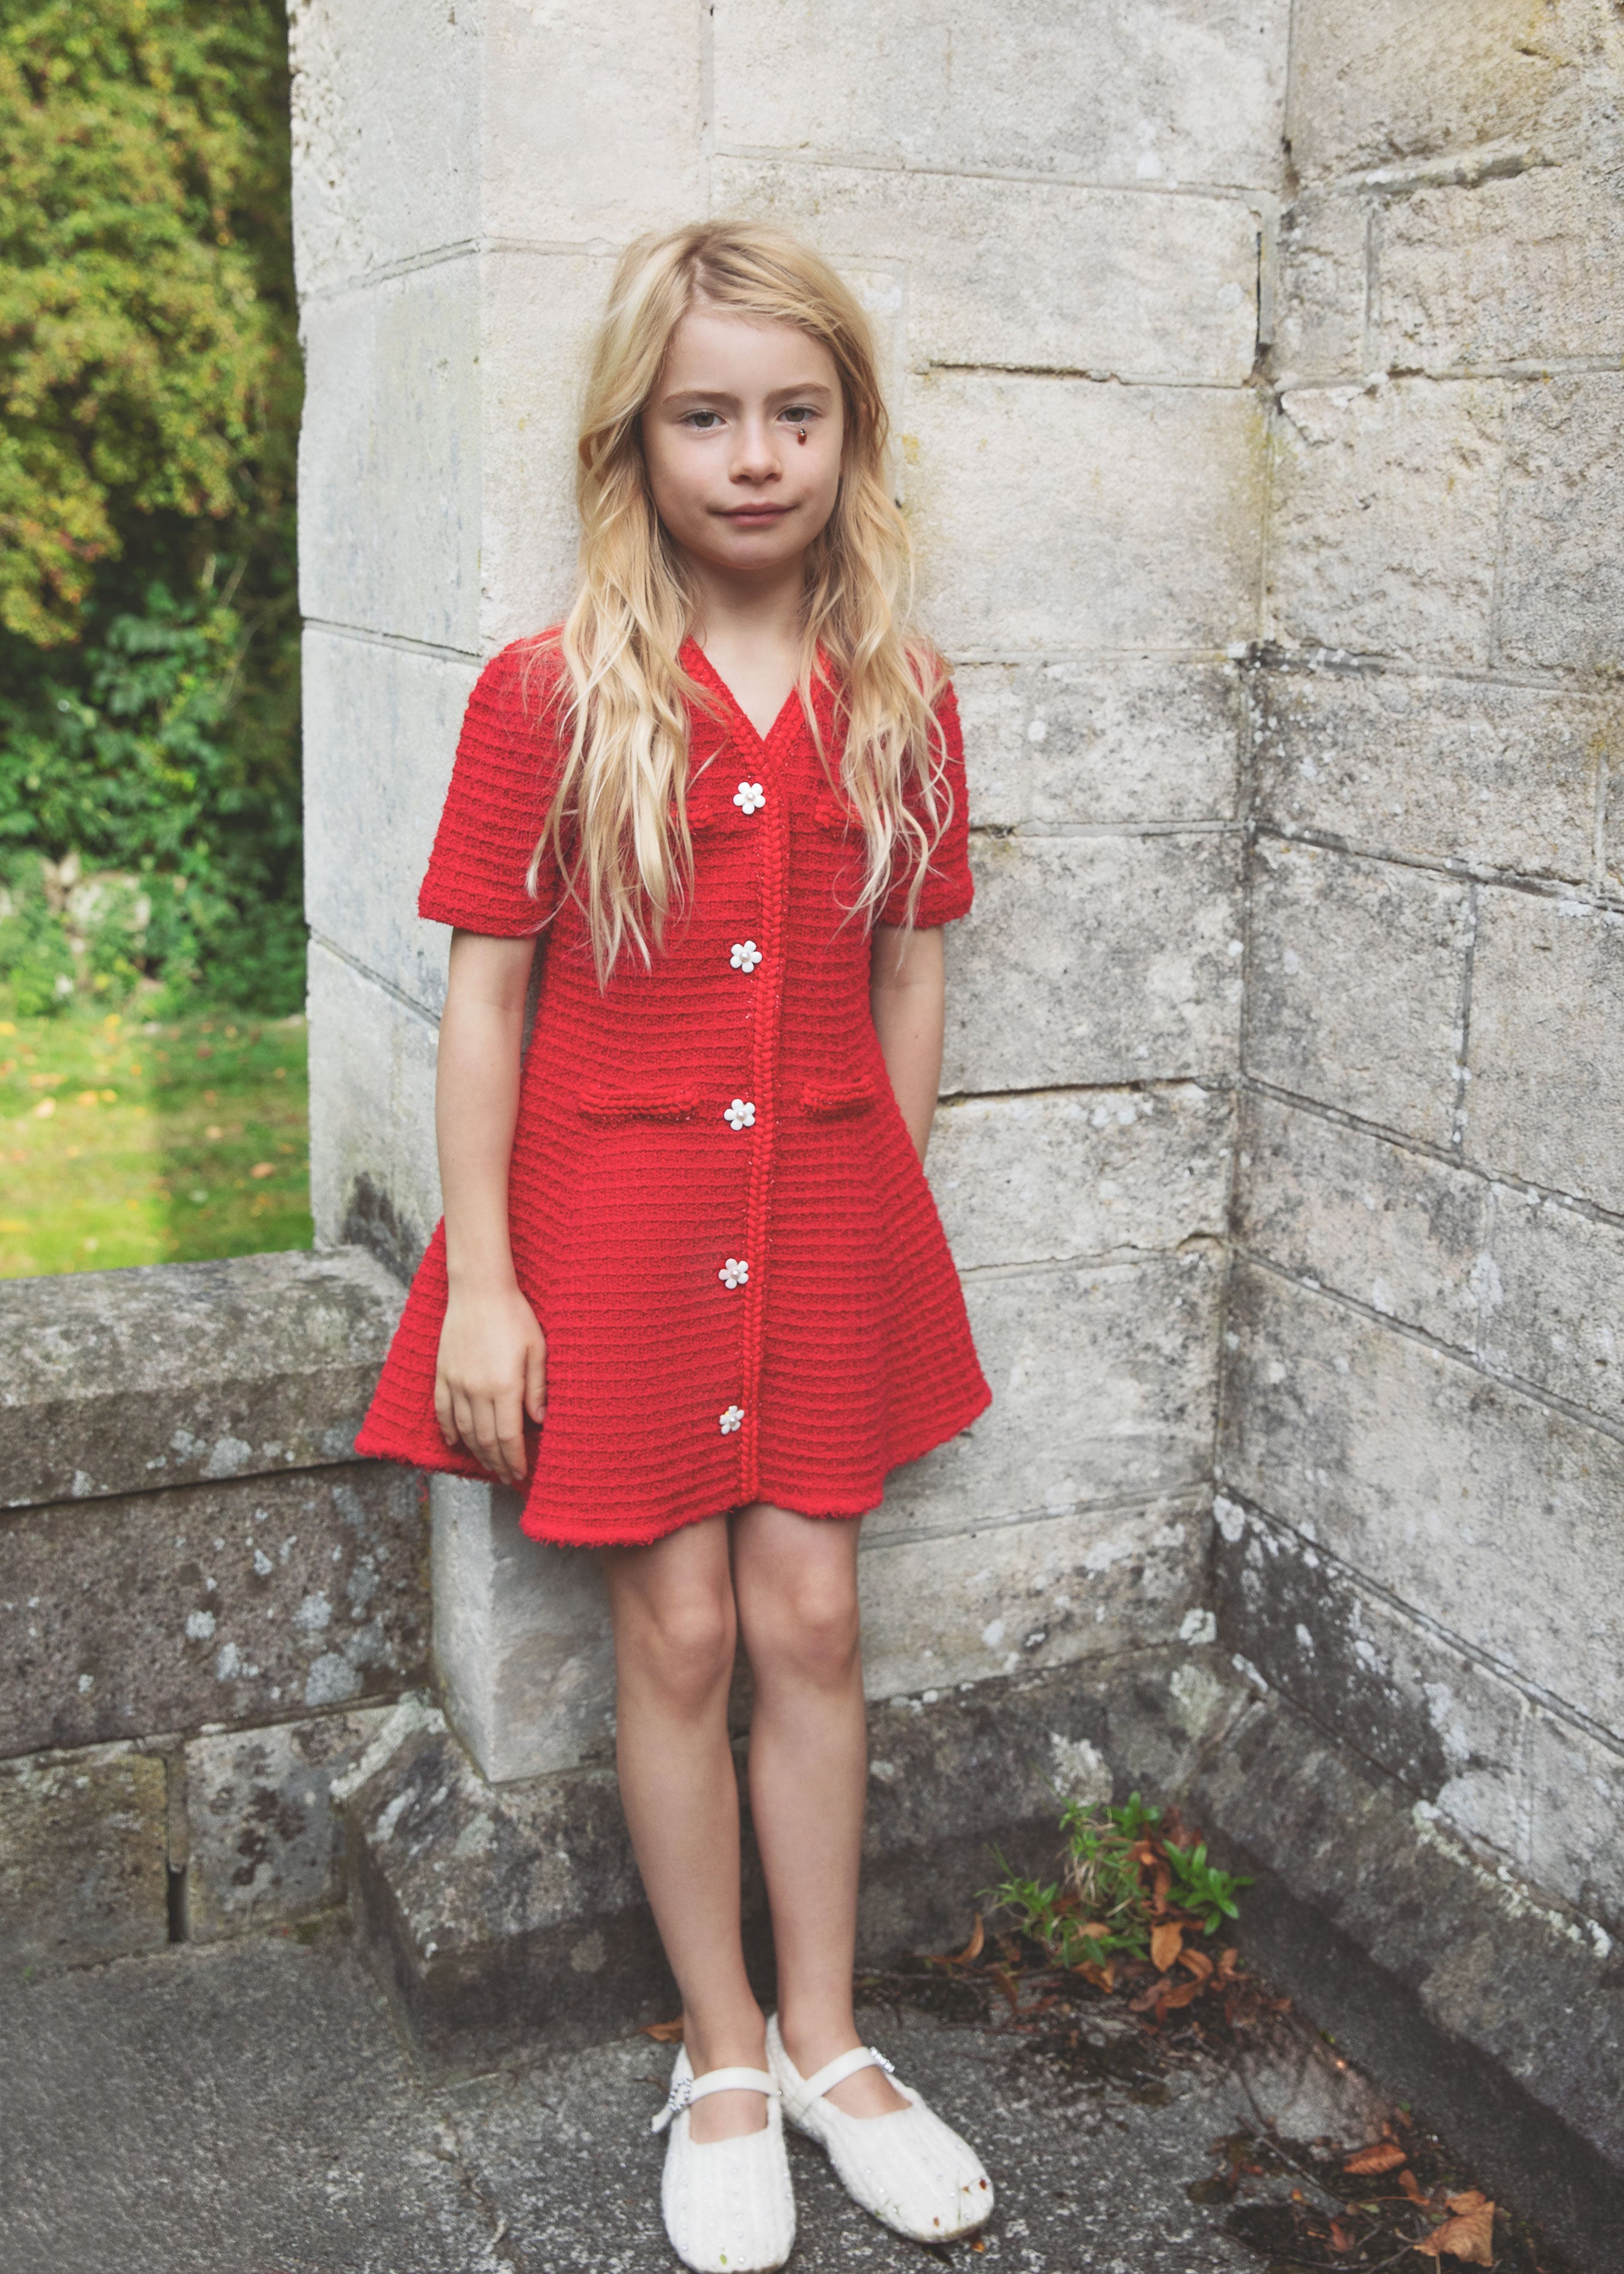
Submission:
POLYGON ((778 2033, 767 2024, 767 2063, 785 2097, 785 2115, 828 2151, 846 2194, 912 2242, 951 2242, 992 2215, 992 2181, 976 2149, 903 2085, 885 2053, 857 2044, 837 2053, 817 2076, 801 2076, 778 2033), (857 2069, 885 2069, 908 2108, 887 2117, 848 2117, 823 2094, 857 2069))

